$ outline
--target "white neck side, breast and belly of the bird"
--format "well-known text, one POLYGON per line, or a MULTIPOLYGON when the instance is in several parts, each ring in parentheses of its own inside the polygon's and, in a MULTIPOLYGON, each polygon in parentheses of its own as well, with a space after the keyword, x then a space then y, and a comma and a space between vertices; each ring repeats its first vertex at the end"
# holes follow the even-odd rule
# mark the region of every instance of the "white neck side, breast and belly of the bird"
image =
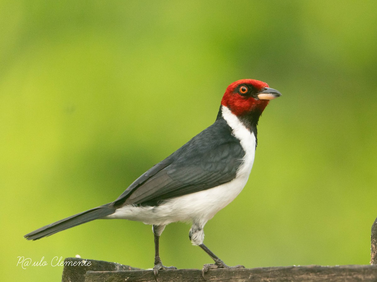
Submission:
POLYGON ((195 221, 205 224, 219 210, 233 201, 244 188, 250 175, 256 139, 254 133, 251 133, 227 107, 222 106, 222 115, 245 151, 242 164, 236 172, 236 178, 217 187, 169 199, 156 207, 127 205, 118 208, 107 218, 129 219, 155 225, 165 225, 176 221, 195 221))

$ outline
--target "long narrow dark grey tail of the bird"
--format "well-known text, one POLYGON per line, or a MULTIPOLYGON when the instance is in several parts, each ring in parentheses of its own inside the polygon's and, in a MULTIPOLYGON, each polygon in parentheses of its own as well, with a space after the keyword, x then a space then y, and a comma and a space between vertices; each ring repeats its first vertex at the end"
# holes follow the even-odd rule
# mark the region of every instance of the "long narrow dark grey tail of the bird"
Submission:
POLYGON ((68 228, 92 221, 94 219, 102 218, 103 216, 111 215, 115 212, 115 208, 111 204, 101 205, 97 208, 91 208, 85 212, 72 215, 68 218, 61 219, 60 221, 43 226, 34 230, 24 237, 28 240, 37 240, 46 236, 50 236, 57 232, 66 230, 68 228))

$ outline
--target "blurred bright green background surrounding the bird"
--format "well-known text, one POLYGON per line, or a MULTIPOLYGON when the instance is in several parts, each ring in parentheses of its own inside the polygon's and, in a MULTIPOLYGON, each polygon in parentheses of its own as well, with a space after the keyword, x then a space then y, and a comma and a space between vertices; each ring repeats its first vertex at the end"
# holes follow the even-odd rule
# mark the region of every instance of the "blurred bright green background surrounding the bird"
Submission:
MULTIPOLYGON (((3 281, 59 281, 55 256, 153 266, 151 227, 93 221, 23 235, 113 201, 255 78, 283 96, 259 122, 248 184, 205 227, 227 264, 368 264, 377 216, 375 1, 2 1, 3 281)), ((166 265, 211 262, 189 225, 166 265)))

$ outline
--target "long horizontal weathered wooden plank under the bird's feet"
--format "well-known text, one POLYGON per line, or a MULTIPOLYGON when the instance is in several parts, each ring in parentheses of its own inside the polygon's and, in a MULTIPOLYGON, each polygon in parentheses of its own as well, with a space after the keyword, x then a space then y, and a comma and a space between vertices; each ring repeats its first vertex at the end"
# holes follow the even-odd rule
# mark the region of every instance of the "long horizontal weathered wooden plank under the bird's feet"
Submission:
MULTIPOLYGON (((376 282, 377 265, 319 265, 264 267, 252 269, 209 270, 203 279, 201 270, 161 270, 158 282, 376 282)), ((85 282, 155 282, 152 270, 88 271, 85 282)))

